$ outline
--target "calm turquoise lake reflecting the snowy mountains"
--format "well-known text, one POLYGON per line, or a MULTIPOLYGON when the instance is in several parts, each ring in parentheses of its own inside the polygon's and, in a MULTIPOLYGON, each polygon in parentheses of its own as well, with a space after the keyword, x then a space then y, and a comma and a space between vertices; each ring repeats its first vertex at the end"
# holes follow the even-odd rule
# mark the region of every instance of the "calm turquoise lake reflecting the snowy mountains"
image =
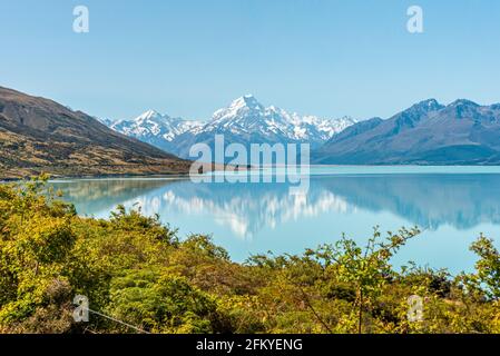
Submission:
POLYGON ((304 195, 278 182, 192 182, 188 178, 52 180, 80 215, 108 218, 122 204, 178 228, 209 234, 232 258, 300 254, 343 233, 360 244, 381 231, 423 233, 394 258, 401 266, 471 270, 470 244, 484 233, 500 246, 500 167, 313 167, 304 195))

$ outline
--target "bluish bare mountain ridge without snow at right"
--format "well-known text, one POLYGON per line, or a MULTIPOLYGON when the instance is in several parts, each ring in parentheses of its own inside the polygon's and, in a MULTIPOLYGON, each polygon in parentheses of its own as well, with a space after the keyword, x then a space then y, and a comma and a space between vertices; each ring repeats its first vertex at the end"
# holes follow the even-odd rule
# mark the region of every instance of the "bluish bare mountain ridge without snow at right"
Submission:
POLYGON ((329 165, 499 165, 500 105, 429 99, 357 122, 312 154, 329 165))

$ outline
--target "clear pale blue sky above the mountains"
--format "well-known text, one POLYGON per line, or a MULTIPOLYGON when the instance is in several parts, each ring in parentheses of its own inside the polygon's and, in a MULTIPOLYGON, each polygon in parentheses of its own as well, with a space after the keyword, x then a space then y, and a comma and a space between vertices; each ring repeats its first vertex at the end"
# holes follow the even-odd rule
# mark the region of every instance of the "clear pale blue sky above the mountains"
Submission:
POLYGON ((111 119, 204 119, 234 98, 389 117, 500 101, 498 0, 0 0, 0 86, 111 119), (90 32, 72 31, 72 9, 90 32), (406 31, 423 9, 424 32, 406 31))

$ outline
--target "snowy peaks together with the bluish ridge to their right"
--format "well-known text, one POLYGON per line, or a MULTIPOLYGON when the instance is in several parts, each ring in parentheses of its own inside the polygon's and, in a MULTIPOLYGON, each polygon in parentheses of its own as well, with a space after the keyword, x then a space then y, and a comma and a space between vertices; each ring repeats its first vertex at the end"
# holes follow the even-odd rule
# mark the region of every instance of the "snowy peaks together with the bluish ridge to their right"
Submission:
POLYGON ((208 121, 170 118, 149 110, 110 127, 188 158, 197 142, 308 142, 311 161, 324 165, 498 165, 500 105, 435 99, 413 105, 389 119, 322 119, 264 107, 251 95, 214 112, 208 121))

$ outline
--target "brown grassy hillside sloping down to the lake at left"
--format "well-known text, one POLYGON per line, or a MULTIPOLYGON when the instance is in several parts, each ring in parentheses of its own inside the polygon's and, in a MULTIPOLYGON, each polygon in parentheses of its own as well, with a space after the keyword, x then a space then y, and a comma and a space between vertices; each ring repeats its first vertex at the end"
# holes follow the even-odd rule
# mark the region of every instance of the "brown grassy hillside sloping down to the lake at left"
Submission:
POLYGON ((0 179, 180 174, 189 165, 85 112, 0 87, 0 179))

